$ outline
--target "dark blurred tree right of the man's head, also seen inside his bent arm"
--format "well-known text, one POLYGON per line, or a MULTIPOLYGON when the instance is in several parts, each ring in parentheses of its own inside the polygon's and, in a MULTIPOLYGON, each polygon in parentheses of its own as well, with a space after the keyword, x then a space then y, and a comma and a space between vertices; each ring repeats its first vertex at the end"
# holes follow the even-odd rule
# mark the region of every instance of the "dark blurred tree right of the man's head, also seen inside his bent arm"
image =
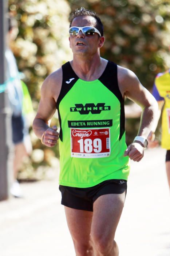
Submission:
MULTIPOLYGON (((106 39, 101 56, 131 69, 147 89, 151 90, 158 72, 170 68, 169 0, 69 0, 69 3, 72 11, 84 7, 100 16, 106 39)), ((139 123, 139 118, 126 120, 128 144, 139 123)))

